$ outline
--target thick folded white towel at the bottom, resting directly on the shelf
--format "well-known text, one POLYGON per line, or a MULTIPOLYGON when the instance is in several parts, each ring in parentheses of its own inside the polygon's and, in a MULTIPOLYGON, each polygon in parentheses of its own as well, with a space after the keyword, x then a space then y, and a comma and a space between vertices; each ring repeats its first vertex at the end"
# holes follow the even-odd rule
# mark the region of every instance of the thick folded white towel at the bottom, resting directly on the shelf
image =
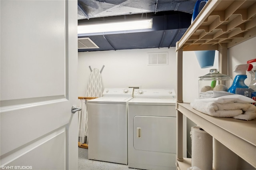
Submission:
POLYGON ((234 117, 243 120, 252 120, 256 118, 256 107, 250 103, 194 101, 190 103, 190 106, 197 111, 213 117, 234 117))

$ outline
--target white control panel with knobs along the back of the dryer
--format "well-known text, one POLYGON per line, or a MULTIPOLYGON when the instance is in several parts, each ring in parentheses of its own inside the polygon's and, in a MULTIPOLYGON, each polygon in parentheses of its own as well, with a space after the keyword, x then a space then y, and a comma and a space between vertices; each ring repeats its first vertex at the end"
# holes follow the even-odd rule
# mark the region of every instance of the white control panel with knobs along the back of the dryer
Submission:
POLYGON ((174 89, 134 89, 134 97, 145 98, 176 98, 174 89))

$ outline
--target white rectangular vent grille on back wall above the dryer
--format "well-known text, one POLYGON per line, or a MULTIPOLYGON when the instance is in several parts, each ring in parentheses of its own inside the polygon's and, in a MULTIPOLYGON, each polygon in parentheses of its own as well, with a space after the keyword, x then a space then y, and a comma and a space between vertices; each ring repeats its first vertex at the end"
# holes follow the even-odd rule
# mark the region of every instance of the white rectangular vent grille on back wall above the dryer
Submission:
POLYGON ((168 53, 148 53, 148 65, 168 65, 168 53))

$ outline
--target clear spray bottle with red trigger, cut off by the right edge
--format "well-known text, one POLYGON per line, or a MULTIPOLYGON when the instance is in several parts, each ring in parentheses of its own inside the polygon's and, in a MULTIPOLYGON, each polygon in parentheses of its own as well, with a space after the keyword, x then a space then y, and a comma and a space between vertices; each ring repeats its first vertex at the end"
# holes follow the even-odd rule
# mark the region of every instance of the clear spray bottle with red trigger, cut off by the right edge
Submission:
MULTIPOLYGON (((244 92, 244 95, 256 101, 256 59, 251 59, 247 61, 247 63, 252 64, 253 66, 251 70, 248 70, 248 73, 251 74, 252 79, 249 88, 244 92)), ((256 103, 253 104, 256 105, 256 103)))

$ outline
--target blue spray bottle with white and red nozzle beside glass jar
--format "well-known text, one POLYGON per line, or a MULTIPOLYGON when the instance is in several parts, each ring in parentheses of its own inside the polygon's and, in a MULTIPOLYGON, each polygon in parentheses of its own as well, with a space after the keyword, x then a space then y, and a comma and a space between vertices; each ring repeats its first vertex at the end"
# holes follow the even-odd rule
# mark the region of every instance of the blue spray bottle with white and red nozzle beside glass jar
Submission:
POLYGON ((244 84, 244 80, 247 78, 246 71, 252 69, 251 64, 236 65, 234 72, 237 73, 231 87, 228 92, 234 94, 244 95, 244 92, 248 89, 248 86, 244 84))

